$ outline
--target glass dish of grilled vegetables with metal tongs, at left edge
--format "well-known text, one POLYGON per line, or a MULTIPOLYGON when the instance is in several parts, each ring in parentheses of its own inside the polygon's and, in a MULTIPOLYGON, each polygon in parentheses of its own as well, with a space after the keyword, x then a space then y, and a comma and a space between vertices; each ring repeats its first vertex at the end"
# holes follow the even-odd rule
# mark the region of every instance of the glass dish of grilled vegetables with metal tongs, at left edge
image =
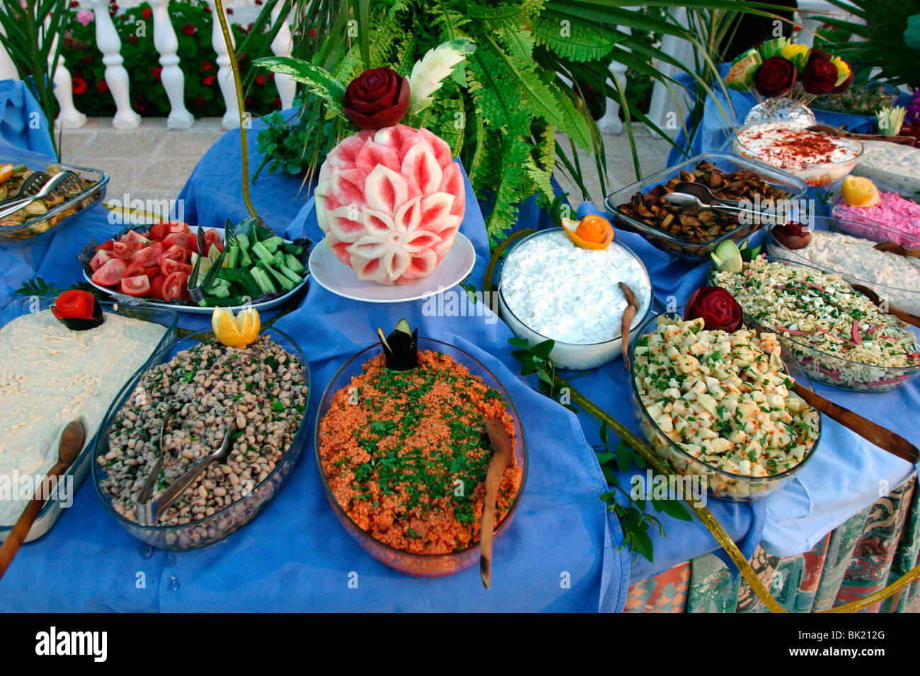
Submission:
MULTIPOLYGON (((5 160, 10 164, 17 164, 16 158, 5 158, 5 160)), ((106 197, 109 174, 99 169, 61 164, 39 166, 39 163, 34 160, 29 160, 27 166, 29 166, 29 169, 44 171, 52 176, 58 171, 73 171, 83 180, 86 187, 63 200, 60 197, 55 198, 52 196, 43 198, 41 208, 45 209, 44 212, 35 214, 27 213, 23 210, 13 212, 3 221, 0 221, 0 244, 31 244, 36 237, 48 235, 59 227, 70 223, 69 219, 75 213, 82 212, 94 203, 103 201, 106 197)))

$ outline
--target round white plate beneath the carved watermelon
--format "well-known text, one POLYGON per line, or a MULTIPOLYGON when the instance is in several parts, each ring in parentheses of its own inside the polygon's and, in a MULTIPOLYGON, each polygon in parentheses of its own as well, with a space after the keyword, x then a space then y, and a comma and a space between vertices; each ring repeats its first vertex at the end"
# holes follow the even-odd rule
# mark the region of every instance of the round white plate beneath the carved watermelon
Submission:
POLYGON ((476 264, 476 250, 463 233, 428 277, 408 284, 361 281, 355 271, 336 258, 324 242, 310 252, 310 276, 329 292, 365 303, 403 303, 428 298, 464 281, 476 264))

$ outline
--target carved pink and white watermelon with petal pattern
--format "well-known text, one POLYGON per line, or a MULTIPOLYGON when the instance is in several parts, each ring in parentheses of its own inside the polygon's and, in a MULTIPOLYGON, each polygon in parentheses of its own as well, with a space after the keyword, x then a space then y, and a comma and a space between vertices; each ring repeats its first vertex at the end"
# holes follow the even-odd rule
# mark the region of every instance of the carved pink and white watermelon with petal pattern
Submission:
POLYGON ((358 279, 381 284, 431 274, 454 245, 466 196, 447 143, 403 124, 336 145, 314 195, 326 246, 358 279))

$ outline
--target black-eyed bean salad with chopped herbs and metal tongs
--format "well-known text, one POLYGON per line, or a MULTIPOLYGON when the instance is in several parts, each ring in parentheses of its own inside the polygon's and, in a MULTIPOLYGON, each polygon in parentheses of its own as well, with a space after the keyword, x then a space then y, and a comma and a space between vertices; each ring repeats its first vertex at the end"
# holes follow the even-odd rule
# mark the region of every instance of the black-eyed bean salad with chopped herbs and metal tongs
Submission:
MULTIPOLYGON (((160 453, 163 419, 163 465, 154 496, 219 448, 235 422, 226 463, 211 464, 155 526, 180 527, 211 517, 254 493, 282 463, 306 401, 303 365, 266 334, 243 349, 214 340, 180 350, 145 372, 115 414, 109 452, 97 458, 106 473, 99 487, 115 511, 137 521, 136 501, 160 453)), ((229 532, 240 525, 234 517, 227 514, 214 527, 229 532)), ((176 544, 175 536, 171 540, 167 544, 176 544)))

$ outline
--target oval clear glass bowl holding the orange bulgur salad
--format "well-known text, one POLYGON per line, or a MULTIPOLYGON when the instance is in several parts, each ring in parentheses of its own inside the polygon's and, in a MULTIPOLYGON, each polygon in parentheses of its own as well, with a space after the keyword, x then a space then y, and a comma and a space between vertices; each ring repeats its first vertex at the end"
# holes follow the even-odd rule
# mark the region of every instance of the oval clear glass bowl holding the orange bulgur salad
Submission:
MULTIPOLYGON (((512 506, 508 510, 508 513, 505 515, 505 518, 495 529, 494 537, 495 540, 498 540, 501 535, 506 533, 511 527, 514 514, 521 502, 524 486, 527 483, 527 443, 524 439, 523 427, 521 426, 521 417, 518 415, 517 408, 514 407, 512 398, 508 394, 508 391, 505 389, 504 385, 500 383, 499 379, 495 376, 494 373, 490 372, 489 369, 481 361, 478 361, 471 354, 463 349, 456 348, 453 345, 449 345, 448 343, 442 342, 441 340, 435 340, 433 338, 420 337, 419 349, 430 349, 436 352, 441 352, 442 354, 449 355, 454 359, 454 361, 465 366, 470 373, 481 378, 483 383, 493 389, 498 390, 504 397, 506 408, 512 417, 512 423, 514 425, 514 455, 517 458, 518 465, 522 469, 522 475, 521 486, 518 487, 518 492, 512 502, 512 506)), ((338 500, 332 494, 332 491, 328 485, 328 479, 323 472, 323 464, 319 454, 319 429, 322 419, 325 418, 326 414, 328 413, 332 397, 337 392, 339 392, 340 389, 351 384, 351 378, 358 376, 363 372, 365 361, 373 358, 381 351, 382 350, 379 344, 376 343, 362 349, 356 355, 351 357, 349 361, 346 361, 344 364, 342 364, 339 371, 336 372, 336 374, 332 377, 332 380, 329 381, 329 384, 326 387, 326 391, 323 393, 323 398, 319 405, 319 409, 316 411, 316 426, 314 430, 316 471, 319 473, 319 480, 322 483, 324 490, 326 491, 326 497, 328 498, 329 504, 332 506, 332 511, 335 513, 339 523, 341 523, 345 531, 351 535, 351 539, 354 540, 359 546, 361 546, 361 548, 367 552, 367 554, 373 556, 377 561, 380 561, 385 566, 391 567, 401 573, 405 573, 406 575, 411 575, 413 577, 440 578, 446 575, 453 575, 454 573, 458 573, 468 567, 473 566, 477 562, 479 558, 478 543, 468 546, 466 549, 452 552, 450 554, 412 554, 401 549, 391 547, 388 544, 384 544, 379 540, 374 539, 374 537, 363 531, 361 527, 359 527, 354 521, 351 520, 351 517, 345 510, 341 508, 338 500)))

